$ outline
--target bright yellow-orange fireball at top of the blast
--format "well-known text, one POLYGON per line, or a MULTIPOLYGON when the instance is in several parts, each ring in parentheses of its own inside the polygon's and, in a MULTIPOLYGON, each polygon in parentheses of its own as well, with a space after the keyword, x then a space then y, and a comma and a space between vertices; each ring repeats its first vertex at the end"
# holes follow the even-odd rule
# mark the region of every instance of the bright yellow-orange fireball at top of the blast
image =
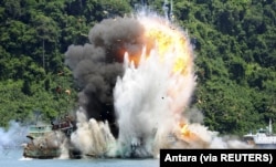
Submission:
MULTIPOLYGON (((169 56, 167 59, 173 60, 173 73, 185 75, 191 72, 189 67, 192 66, 190 64, 192 63, 193 53, 188 41, 189 39, 182 31, 169 24, 167 21, 156 18, 140 19, 140 23, 145 28, 141 38, 146 46, 146 56, 149 56, 150 51, 155 49, 161 61, 164 61, 164 56, 169 56)), ((129 60, 138 65, 140 61, 139 55, 131 55, 129 53, 129 60)))

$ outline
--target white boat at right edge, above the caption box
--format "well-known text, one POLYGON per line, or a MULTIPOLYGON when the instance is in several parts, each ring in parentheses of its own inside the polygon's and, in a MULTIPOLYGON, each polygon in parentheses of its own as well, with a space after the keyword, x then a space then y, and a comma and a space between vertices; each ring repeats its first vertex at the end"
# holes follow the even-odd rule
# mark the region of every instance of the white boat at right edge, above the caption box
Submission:
POLYGON ((272 119, 267 128, 259 128, 257 133, 248 133, 243 136, 243 139, 258 148, 276 148, 276 135, 273 134, 272 119))

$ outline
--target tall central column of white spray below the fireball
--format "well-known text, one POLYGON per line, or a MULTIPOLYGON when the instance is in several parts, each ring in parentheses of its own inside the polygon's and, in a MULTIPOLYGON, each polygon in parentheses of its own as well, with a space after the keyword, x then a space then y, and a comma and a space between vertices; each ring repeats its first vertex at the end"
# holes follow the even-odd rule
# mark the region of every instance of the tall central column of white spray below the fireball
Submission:
POLYGON ((192 73, 171 73, 173 52, 161 61, 157 51, 142 55, 138 67, 126 55, 125 74, 114 90, 123 157, 152 156, 169 145, 167 135, 181 119, 179 113, 188 107, 195 85, 192 73))

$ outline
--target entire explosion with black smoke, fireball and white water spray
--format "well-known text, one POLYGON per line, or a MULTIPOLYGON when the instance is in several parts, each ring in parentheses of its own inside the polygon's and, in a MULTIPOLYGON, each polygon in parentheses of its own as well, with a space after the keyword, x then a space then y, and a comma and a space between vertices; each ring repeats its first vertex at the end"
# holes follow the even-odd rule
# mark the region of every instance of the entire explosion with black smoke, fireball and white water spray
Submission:
POLYGON ((183 114, 197 84, 184 31, 160 17, 106 19, 89 42, 65 54, 82 88, 71 140, 83 154, 158 157, 160 148, 230 146, 183 114))

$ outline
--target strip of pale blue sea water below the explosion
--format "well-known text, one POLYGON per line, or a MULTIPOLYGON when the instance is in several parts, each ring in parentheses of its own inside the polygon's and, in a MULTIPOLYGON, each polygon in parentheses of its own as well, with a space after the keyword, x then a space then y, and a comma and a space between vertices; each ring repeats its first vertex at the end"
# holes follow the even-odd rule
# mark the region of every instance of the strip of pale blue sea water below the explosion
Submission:
POLYGON ((23 149, 0 149, 0 167, 158 167, 159 159, 31 159, 23 149))

